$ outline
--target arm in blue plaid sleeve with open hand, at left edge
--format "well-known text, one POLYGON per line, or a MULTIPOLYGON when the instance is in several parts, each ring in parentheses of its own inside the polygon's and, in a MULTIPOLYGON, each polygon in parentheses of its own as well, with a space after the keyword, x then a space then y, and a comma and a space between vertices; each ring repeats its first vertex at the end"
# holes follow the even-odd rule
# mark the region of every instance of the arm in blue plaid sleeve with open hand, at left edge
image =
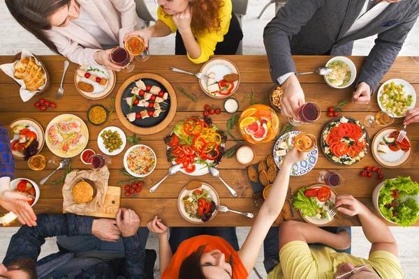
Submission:
POLYGON ((36 215, 28 204, 30 197, 10 190, 10 180, 15 174, 10 138, 3 124, 0 123, 0 206, 16 214, 22 225, 36 226, 36 215))

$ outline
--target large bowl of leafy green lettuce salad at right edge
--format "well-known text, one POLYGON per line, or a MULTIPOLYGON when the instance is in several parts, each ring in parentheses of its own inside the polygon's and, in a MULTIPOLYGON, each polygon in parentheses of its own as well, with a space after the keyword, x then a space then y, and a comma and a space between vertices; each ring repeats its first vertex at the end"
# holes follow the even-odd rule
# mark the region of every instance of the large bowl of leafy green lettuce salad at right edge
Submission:
POLYGON ((409 227, 419 219, 419 184, 410 176, 386 179, 374 189, 372 202, 385 220, 409 227))

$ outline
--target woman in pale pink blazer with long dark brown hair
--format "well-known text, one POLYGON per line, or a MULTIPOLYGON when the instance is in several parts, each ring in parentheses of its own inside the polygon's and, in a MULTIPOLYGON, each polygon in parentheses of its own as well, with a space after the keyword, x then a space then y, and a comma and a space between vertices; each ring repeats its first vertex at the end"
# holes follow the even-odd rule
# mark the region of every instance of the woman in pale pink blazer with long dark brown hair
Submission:
POLYGON ((144 28, 134 0, 6 0, 22 27, 52 51, 80 65, 110 62, 113 47, 123 46, 125 33, 144 28))

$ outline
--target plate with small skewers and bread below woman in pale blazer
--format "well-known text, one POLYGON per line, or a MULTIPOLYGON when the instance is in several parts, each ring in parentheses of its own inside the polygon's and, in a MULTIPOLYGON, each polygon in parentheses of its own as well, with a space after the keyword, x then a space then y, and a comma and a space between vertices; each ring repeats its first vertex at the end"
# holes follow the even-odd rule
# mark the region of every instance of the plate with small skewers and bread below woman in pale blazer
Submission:
POLYGON ((82 65, 75 70, 74 83, 79 93, 90 100, 108 96, 117 82, 115 72, 103 66, 82 65))

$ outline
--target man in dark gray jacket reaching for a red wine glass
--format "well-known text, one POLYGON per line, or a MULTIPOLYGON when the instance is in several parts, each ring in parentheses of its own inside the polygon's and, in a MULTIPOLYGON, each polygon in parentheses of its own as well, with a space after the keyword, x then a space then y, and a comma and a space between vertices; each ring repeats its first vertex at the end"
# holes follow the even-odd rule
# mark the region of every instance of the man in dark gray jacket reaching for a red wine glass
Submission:
POLYGON ((284 87, 281 113, 298 119, 305 102, 292 54, 348 56, 354 40, 378 34, 352 97, 369 103, 418 13, 418 0, 288 0, 263 33, 272 80, 284 87))

